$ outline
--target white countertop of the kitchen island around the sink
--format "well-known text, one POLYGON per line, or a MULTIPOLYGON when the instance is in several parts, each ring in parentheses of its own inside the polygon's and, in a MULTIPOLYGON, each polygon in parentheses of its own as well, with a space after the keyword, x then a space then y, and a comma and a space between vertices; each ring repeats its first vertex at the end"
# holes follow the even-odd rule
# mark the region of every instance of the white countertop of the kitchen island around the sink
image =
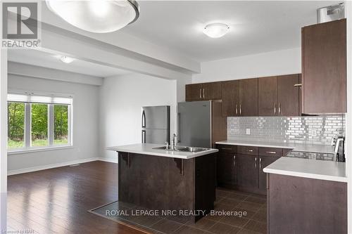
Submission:
POLYGON ((132 152, 135 154, 154 155, 154 156, 161 156, 161 157, 175 157, 175 158, 181 158, 184 160, 189 160, 194 157, 208 155, 213 152, 219 151, 217 149, 208 149, 201 152, 180 152, 180 151, 172 151, 172 150, 155 149, 162 146, 165 146, 165 145, 139 143, 134 145, 112 146, 112 147, 108 147, 107 150, 113 150, 118 152, 132 152))

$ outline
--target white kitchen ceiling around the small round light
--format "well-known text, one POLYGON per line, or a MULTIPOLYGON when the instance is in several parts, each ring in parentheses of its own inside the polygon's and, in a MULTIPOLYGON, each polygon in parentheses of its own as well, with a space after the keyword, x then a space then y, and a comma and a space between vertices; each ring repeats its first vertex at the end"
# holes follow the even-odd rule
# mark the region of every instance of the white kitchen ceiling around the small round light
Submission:
MULTIPOLYGON (((317 9, 341 1, 139 1, 139 19, 120 30, 198 61, 301 46, 301 27, 317 23, 317 9), (225 22, 225 37, 202 30, 225 22)), ((117 32, 116 32, 117 33, 117 32)))

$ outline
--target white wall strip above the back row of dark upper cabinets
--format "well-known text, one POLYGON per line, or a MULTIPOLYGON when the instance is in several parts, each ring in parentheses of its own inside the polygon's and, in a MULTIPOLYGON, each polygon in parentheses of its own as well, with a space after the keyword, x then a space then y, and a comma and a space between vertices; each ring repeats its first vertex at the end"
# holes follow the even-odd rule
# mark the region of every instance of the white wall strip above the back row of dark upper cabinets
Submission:
POLYGON ((301 48, 258 53, 201 63, 193 83, 301 73, 301 48))

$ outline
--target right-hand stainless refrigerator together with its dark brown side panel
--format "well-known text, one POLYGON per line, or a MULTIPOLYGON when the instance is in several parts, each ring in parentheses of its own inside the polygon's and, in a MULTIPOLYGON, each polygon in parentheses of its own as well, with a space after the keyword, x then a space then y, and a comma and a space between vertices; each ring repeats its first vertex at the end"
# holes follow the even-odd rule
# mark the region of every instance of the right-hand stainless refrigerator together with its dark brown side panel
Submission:
POLYGON ((220 100, 178 103, 177 141, 179 145, 213 148, 227 140, 227 119, 221 115, 220 100))

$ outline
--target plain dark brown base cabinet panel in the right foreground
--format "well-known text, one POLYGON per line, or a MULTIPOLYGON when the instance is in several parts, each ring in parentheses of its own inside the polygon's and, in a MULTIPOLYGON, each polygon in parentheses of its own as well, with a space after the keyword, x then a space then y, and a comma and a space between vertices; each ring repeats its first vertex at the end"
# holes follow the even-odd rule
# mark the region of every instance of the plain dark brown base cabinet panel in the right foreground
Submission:
POLYGON ((347 233, 347 183, 268 174, 268 234, 347 233))

